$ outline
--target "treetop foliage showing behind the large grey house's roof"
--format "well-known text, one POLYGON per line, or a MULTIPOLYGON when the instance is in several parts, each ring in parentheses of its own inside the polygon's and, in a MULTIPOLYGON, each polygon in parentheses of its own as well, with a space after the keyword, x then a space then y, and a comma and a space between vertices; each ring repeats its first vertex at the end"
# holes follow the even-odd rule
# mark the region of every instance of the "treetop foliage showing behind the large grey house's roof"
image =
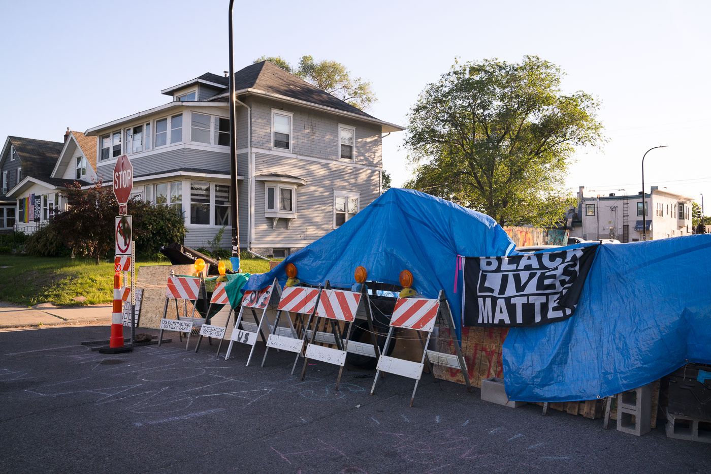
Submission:
POLYGON ((338 61, 321 60, 316 62, 312 56, 301 56, 297 68, 294 68, 282 56, 262 56, 255 59, 254 62, 260 63, 263 60, 274 63, 279 68, 361 110, 368 109, 377 100, 370 81, 352 78, 351 71, 338 61))

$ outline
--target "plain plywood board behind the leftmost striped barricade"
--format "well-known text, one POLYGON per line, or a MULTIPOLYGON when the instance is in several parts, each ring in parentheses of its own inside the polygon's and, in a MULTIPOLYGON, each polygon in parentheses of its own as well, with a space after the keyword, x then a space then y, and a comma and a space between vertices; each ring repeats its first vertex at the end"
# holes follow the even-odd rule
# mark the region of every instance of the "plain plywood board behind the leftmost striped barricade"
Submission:
MULTIPOLYGON (((166 304, 166 281, 173 270, 176 275, 190 275, 195 271, 193 265, 142 265, 136 272, 137 288, 143 288, 143 299, 139 312, 138 327, 160 329, 163 308, 166 304)), ((183 304, 178 305, 181 317, 190 317, 193 305, 188 301, 188 312, 183 304)), ((166 318, 177 319, 176 305, 171 301, 166 318)))

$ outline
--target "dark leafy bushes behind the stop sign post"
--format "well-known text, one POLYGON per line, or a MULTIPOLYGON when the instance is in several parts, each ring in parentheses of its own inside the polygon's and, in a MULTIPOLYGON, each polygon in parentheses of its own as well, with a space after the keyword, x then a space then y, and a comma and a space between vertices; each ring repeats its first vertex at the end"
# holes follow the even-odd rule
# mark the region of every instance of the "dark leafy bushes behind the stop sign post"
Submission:
MULTIPOLYGON (((50 223, 53 232, 61 236, 65 245, 77 256, 100 258, 113 255, 114 217, 118 202, 111 186, 99 181, 88 190, 80 184, 67 186, 68 209, 60 212, 50 223)), ((134 197, 128 203, 133 216, 133 240, 137 256, 153 256, 161 246, 181 242, 185 238, 183 216, 168 206, 152 206, 134 197)))

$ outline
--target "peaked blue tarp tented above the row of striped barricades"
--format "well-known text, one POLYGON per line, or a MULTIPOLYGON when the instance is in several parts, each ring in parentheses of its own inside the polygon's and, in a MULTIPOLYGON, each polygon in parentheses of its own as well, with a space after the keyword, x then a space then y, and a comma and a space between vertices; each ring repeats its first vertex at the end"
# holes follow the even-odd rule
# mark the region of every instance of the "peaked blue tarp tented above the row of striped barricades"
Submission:
POLYGON ((389 189, 343 226, 288 256, 277 268, 252 275, 245 285, 257 290, 274 278, 287 279, 287 263, 309 285, 350 287, 358 265, 368 280, 399 285, 402 270, 410 270, 414 288, 435 298, 444 290, 461 332, 461 278, 454 294, 456 256, 503 256, 513 241, 493 218, 412 189, 389 189))

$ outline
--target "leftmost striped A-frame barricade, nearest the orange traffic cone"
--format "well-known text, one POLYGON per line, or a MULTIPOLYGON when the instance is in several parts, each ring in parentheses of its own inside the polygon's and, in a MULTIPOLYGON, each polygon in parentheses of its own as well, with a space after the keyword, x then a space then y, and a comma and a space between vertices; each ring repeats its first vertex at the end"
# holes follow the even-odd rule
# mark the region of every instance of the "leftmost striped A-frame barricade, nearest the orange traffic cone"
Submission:
MULTIPOLYGON (((195 305, 198 299, 205 297, 205 281, 202 278, 175 276, 171 270, 171 275, 168 277, 168 285, 166 286, 166 304, 163 307, 163 318, 161 319, 161 334, 159 335, 158 345, 161 345, 164 331, 177 331, 178 333, 186 332, 188 335, 186 342, 186 350, 190 344, 190 335, 193 332, 193 326, 201 325, 204 320, 195 317, 195 305), (166 319, 168 314, 168 302, 173 298, 176 302, 176 320, 166 319), (193 311, 191 317, 183 317, 181 320, 180 308, 178 300, 183 300, 184 314, 188 314, 188 301, 193 303, 193 311)), ((181 341, 183 337, 181 335, 181 341)))

